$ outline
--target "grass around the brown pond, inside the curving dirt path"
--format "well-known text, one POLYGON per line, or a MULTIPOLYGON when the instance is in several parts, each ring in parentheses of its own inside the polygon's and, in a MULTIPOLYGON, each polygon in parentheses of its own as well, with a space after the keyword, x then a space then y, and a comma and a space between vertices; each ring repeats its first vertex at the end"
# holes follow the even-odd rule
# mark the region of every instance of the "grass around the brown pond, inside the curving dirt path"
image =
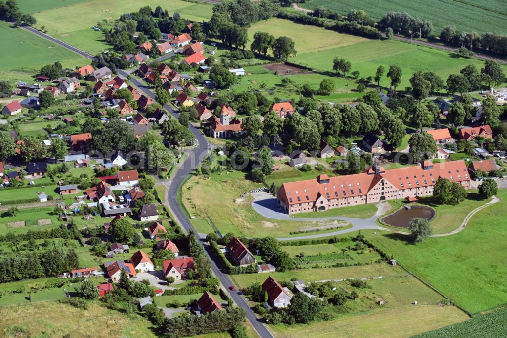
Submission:
MULTIPOLYGON (((418 204, 430 207, 437 212, 437 216, 431 221, 433 233, 446 233, 459 227, 470 211, 488 201, 490 199, 479 199, 477 191, 472 190, 468 192, 467 199, 455 206, 435 204, 432 196, 419 197, 418 204)), ((407 204, 405 200, 389 200, 388 202, 393 211, 407 204)))

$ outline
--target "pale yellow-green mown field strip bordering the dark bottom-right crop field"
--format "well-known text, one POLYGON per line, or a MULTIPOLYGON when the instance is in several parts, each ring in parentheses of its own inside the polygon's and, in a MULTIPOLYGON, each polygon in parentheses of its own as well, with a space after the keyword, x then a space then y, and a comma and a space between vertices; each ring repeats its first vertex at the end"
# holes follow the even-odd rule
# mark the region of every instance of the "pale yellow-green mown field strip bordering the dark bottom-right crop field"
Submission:
POLYGON ((455 307, 413 306, 318 322, 311 325, 270 325, 275 337, 385 337, 404 338, 468 319, 455 307), (337 333, 339 332, 339 333, 337 333))

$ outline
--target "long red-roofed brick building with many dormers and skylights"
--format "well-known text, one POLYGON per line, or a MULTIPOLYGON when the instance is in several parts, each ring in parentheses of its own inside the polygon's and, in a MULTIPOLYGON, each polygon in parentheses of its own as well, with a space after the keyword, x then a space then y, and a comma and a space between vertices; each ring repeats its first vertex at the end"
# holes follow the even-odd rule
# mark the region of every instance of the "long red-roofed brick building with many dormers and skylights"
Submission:
POLYGON ((470 176, 463 160, 384 170, 378 162, 364 173, 284 183, 277 202, 289 215, 374 203, 387 199, 433 194, 442 177, 470 188, 470 176))

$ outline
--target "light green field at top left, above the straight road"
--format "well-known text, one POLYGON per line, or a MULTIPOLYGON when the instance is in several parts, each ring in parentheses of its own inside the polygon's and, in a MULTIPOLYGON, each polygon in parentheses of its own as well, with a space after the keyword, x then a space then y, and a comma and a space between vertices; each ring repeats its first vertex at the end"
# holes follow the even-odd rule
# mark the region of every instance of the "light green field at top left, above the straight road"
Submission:
POLYGON ((182 0, 149 0, 139 3, 135 0, 104 3, 100 0, 88 0, 75 4, 49 9, 34 16, 37 19, 36 27, 45 27, 47 33, 70 45, 82 49, 91 54, 96 54, 110 46, 103 41, 103 34, 91 27, 97 22, 106 20, 116 21, 120 15, 128 12, 136 12, 142 6, 151 6, 153 9, 162 6, 169 14, 178 12, 182 18, 203 21, 211 17, 210 4, 195 4, 182 0), (68 15, 79 13, 79 15, 68 15))

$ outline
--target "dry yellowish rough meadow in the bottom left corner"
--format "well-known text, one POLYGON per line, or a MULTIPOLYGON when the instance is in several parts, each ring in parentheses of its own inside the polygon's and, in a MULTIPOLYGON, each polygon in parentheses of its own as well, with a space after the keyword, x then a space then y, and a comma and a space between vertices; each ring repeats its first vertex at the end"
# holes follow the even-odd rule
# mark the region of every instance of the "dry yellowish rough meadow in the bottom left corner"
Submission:
MULTIPOLYGON (((0 330, 21 326, 25 336, 60 337, 86 332, 96 337, 153 337, 152 324, 143 317, 108 310, 98 300, 89 301, 88 310, 81 310, 55 301, 0 309, 0 330), (30 320, 26 320, 30 318, 30 320)), ((9 331, 7 331, 9 332, 9 331)), ((9 335, 7 335, 9 336, 9 335)))

